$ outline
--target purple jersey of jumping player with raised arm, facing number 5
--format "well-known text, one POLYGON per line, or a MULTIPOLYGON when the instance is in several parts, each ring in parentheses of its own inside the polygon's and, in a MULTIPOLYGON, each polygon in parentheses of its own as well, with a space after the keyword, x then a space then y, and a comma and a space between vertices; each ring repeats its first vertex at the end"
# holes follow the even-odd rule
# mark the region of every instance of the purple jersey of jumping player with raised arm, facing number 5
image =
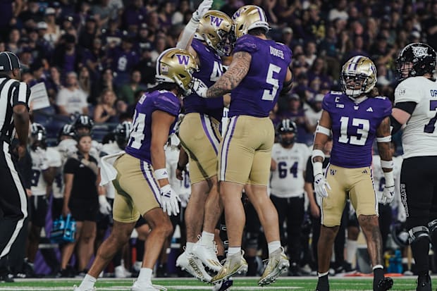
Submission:
MULTIPOLYGON (((199 39, 192 39, 191 47, 197 52, 199 58, 199 72, 193 76, 202 80, 211 87, 223 75, 221 58, 213 49, 207 47, 199 39)), ((183 100, 185 113, 203 113, 221 121, 223 116, 223 97, 206 99, 199 97, 195 92, 183 100)))

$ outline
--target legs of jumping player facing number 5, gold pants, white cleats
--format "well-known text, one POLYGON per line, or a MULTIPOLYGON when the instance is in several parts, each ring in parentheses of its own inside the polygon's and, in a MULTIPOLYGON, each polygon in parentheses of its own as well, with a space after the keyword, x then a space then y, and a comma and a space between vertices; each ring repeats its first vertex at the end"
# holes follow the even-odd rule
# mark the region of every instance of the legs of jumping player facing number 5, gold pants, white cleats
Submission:
MULTIPOLYGON (((181 144, 189 156, 191 197, 185 210, 187 244, 185 252, 178 257, 176 266, 190 271, 188 260, 195 264, 202 274, 207 275, 199 259, 214 271, 219 271, 221 264, 216 258, 214 247, 214 228, 221 215, 221 204, 217 186, 217 153, 220 143, 219 122, 204 114, 188 113, 180 125, 181 144), (196 250, 193 252, 197 237, 203 232, 196 250), (196 253, 199 259, 192 258, 196 253)), ((203 276, 203 275, 202 275, 203 276)), ((201 280, 208 280, 209 275, 201 280)))

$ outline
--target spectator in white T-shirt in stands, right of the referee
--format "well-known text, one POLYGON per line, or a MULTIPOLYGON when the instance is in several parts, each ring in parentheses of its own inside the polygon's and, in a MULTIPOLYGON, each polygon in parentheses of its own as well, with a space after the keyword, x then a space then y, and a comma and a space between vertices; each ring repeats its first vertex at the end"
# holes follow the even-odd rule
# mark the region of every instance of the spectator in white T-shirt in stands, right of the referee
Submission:
POLYGON ((56 105, 59 113, 63 116, 88 113, 87 95, 80 89, 76 73, 67 73, 66 87, 59 90, 56 96, 56 105))

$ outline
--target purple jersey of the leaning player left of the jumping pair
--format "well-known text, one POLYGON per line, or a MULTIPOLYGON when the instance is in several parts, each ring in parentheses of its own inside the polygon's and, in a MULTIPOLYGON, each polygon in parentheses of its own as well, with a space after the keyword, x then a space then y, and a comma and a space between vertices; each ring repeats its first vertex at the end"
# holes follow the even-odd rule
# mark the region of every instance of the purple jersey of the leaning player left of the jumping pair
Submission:
MULTIPOLYGON (((147 161, 147 163, 152 163, 150 156, 152 113, 156 110, 165 111, 177 117, 180 111, 180 101, 175 94, 164 90, 146 93, 138 101, 133 114, 132 131, 125 151, 137 159, 147 161)), ((178 118, 171 125, 168 135, 175 127, 176 120, 178 118)), ((164 147, 164 144, 162 146, 164 147)))

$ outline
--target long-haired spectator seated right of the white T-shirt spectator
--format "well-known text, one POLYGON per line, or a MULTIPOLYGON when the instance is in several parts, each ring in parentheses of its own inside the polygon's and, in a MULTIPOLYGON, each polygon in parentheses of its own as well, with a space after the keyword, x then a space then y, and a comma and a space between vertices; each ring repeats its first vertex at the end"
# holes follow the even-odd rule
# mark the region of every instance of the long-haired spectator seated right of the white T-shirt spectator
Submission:
POLYGON ((104 89, 99 98, 99 104, 94 109, 96 123, 117 123, 116 94, 111 89, 104 89))

